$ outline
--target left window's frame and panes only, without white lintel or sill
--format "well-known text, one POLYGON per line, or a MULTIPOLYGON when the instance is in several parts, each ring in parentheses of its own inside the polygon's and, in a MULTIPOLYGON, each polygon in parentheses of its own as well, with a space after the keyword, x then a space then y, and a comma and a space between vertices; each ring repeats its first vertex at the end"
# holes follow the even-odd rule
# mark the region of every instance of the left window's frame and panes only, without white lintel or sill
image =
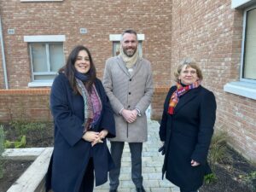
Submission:
POLYGON ((62 43, 30 43, 32 80, 52 80, 64 65, 62 43))

